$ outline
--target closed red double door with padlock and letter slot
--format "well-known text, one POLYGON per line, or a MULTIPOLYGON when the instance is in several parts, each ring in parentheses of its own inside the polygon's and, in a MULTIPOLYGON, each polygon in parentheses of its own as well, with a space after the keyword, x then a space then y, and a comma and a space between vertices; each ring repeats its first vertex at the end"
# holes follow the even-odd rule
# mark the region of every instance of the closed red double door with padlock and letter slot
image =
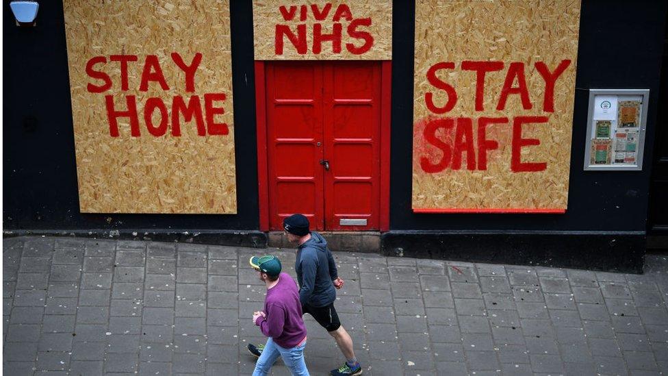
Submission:
POLYGON ((268 62, 270 229, 378 229, 381 63, 268 62))

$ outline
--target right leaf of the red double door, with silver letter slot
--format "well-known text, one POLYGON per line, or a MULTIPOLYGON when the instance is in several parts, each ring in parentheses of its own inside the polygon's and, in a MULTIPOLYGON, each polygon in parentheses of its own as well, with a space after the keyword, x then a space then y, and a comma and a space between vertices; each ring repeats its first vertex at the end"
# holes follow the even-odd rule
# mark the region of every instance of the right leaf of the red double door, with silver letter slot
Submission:
POLYGON ((380 209, 381 66, 337 62, 324 68, 325 227, 378 229, 380 209), (342 220, 361 220, 354 226, 342 220))

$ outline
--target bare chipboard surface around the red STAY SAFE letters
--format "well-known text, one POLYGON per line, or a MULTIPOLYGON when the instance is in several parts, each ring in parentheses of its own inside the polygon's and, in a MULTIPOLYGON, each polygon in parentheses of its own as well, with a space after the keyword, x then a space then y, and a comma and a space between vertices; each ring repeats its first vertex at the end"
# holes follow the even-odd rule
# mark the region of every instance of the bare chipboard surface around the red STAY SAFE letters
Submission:
MULTIPOLYGON (((530 212, 565 210, 571 153, 571 129, 580 23, 580 1, 417 0, 415 10, 415 71, 413 113, 413 210, 422 212, 530 212), (461 70, 461 62, 498 61, 502 71, 485 77, 484 110, 476 111, 476 73, 461 70), (554 112, 543 111, 545 82, 535 68, 544 62, 553 71, 562 60, 571 60, 556 81, 554 112), (439 71, 439 79, 454 86, 459 101, 450 112, 432 114, 425 93, 445 103, 448 96, 428 82, 426 73, 437 62, 454 62, 455 68, 439 71), (511 62, 525 64, 526 85, 532 108, 522 106, 519 95, 509 95, 504 110, 496 110, 511 62), (437 117, 507 117, 505 125, 491 125, 487 136, 499 144, 489 152, 487 170, 446 168, 425 173, 420 158, 432 161, 439 151, 425 141, 424 125, 437 117), (546 162, 545 171, 513 173, 511 138, 515 116, 548 116, 548 123, 524 125, 523 138, 537 138, 540 145, 522 148, 522 162, 546 162)), ((517 86, 517 82, 515 82, 517 86)), ((437 134, 441 139, 447 136, 437 134)))

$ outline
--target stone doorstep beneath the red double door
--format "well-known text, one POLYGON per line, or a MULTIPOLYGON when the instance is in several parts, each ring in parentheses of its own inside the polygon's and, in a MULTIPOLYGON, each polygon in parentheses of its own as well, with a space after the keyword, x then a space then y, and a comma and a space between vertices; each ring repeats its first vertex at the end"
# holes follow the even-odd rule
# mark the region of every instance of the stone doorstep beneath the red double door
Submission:
MULTIPOLYGON (((381 251, 380 231, 318 231, 327 240, 327 246, 333 252, 379 253, 381 251)), ((296 248, 294 243, 287 241, 283 231, 268 232, 268 247, 296 248)))

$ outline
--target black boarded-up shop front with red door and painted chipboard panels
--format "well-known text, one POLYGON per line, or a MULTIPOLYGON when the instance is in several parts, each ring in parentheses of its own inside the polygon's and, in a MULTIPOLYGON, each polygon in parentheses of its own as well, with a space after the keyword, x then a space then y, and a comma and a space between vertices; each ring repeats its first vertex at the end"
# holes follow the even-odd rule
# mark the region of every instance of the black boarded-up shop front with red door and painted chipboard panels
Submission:
POLYGON ((266 247, 301 212, 334 250, 639 271, 666 8, 43 2, 3 26, 5 227, 266 247))

